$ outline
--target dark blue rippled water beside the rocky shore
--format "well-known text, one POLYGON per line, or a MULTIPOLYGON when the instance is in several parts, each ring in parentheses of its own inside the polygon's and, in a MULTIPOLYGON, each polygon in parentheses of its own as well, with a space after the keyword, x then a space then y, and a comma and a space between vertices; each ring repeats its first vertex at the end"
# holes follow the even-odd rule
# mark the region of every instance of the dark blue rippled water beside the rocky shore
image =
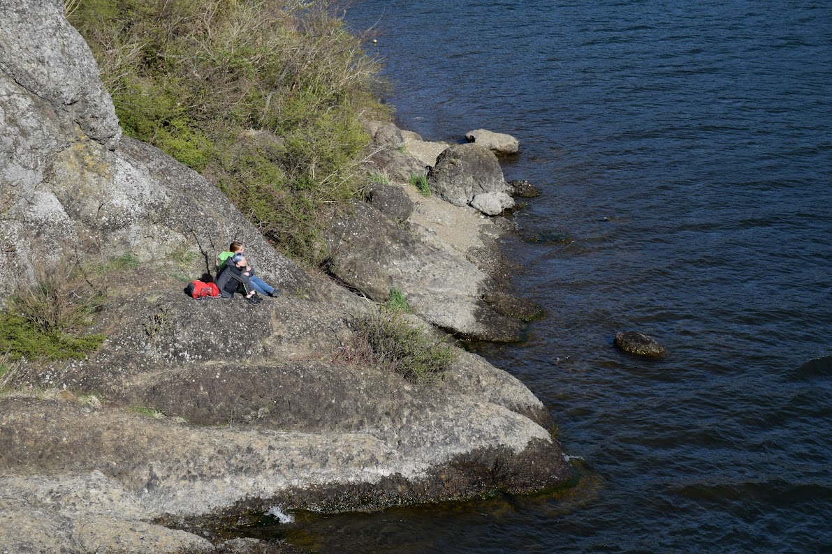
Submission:
POLYGON ((399 124, 518 137, 483 349, 582 458, 567 498, 299 517, 320 552, 832 552, 832 2, 365 0, 399 124), (606 218, 606 219, 605 219, 606 218), (666 347, 612 346, 640 330, 666 347), (809 362, 807 364, 807 362, 809 362))

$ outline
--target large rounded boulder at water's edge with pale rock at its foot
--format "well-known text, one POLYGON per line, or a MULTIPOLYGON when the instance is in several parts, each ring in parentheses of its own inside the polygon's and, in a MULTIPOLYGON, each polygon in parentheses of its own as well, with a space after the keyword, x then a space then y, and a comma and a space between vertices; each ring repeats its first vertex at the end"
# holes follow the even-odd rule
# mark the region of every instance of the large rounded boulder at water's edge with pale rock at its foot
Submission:
POLYGON ((495 205, 514 205, 497 156, 479 145, 455 145, 444 150, 428 173, 428 184, 433 193, 456 206, 473 206, 473 199, 481 194, 488 196, 477 204, 489 211, 493 212, 495 205))

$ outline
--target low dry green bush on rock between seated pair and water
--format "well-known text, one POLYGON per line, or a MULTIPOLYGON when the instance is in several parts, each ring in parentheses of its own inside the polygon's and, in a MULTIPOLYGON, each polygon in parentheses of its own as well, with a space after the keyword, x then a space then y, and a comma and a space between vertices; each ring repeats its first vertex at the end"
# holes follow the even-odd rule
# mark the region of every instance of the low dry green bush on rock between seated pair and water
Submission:
POLYGON ((353 336, 339 359, 354 365, 383 367, 414 384, 441 377, 457 359, 444 339, 431 336, 423 326, 412 326, 403 311, 382 308, 354 316, 349 321, 353 336))

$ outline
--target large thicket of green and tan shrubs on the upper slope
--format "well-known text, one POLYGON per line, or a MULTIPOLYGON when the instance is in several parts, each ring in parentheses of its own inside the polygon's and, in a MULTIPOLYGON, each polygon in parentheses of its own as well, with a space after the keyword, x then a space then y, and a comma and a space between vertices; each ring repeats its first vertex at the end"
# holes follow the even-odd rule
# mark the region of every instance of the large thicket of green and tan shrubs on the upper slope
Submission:
MULTIPOLYGON (((67 8, 68 10, 68 8, 67 8)), ((125 135, 215 183, 286 254, 310 263, 332 208, 359 194, 359 117, 379 66, 321 0, 78 0, 125 135)))

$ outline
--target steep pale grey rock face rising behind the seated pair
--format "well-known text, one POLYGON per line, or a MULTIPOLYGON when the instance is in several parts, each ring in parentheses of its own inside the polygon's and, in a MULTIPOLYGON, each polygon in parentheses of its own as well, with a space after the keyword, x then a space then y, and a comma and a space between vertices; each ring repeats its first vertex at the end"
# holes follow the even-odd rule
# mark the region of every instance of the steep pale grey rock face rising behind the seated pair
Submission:
MULTIPOLYGON (((280 257, 199 174, 135 140, 121 139, 110 96, 63 2, 0 4, 0 290, 35 264, 61 257, 141 262, 196 249, 213 267, 240 240, 265 277, 304 287, 280 257)), ((193 278, 199 277, 199 273, 193 278)))

